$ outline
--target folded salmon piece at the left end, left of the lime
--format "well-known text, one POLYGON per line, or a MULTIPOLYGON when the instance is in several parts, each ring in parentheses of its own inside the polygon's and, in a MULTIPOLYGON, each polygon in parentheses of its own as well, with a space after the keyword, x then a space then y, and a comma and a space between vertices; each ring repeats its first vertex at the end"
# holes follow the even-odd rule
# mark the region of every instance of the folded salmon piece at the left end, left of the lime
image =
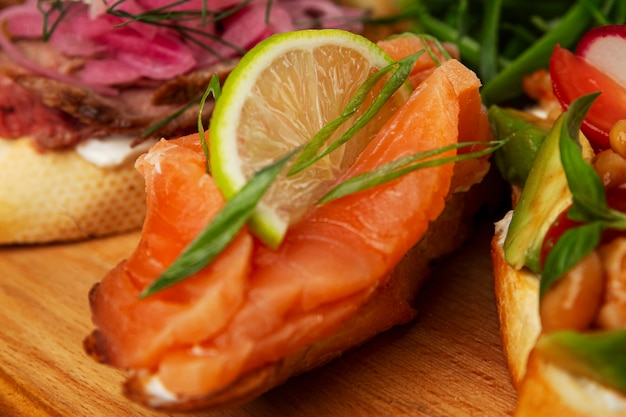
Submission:
POLYGON ((90 295, 103 354, 115 366, 154 369, 165 350, 206 339, 243 302, 253 247, 245 231, 185 285, 139 299, 224 204, 195 143, 197 135, 193 142, 162 140, 137 162, 148 206, 141 241, 90 295))

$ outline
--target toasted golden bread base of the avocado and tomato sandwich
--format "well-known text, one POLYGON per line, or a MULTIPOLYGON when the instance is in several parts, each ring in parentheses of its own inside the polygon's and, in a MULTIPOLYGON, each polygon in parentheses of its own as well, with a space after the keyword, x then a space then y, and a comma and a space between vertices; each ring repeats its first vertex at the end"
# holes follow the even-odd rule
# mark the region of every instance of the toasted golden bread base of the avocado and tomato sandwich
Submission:
POLYGON ((565 371, 534 349, 541 333, 539 279, 504 259, 510 216, 496 223, 491 256, 502 348, 518 391, 515 417, 626 416, 625 396, 565 371))

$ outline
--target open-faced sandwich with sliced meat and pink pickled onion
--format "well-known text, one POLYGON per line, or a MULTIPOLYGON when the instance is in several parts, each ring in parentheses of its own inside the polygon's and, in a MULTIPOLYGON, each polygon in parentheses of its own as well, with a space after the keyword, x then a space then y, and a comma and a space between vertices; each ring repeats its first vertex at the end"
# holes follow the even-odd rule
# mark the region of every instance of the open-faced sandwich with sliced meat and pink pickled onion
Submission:
POLYGON ((135 159, 197 131, 214 73, 272 33, 358 32, 362 16, 331 0, 2 2, 0 244, 138 229, 135 159))

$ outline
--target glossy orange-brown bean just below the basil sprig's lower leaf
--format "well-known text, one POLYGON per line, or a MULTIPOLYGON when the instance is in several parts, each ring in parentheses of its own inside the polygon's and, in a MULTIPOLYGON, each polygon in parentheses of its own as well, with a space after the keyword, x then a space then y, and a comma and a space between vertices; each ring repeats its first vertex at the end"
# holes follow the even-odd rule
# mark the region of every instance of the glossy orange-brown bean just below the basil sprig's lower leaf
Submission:
POLYGON ((596 317, 603 292, 604 269, 594 251, 544 294, 539 306, 542 330, 588 328, 596 317))

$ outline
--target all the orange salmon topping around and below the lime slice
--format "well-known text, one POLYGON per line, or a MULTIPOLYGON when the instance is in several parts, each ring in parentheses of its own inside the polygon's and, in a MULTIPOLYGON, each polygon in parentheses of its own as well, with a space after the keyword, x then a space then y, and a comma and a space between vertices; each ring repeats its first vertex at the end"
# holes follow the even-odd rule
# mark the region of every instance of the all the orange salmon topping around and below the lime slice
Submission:
MULTIPOLYGON (((456 143, 463 97, 479 86, 458 61, 443 63, 340 181, 456 143)), ((87 347, 103 362, 158 381, 172 401, 225 389, 357 315, 441 213, 454 172, 452 164, 418 170, 313 207, 277 250, 244 229, 207 268, 140 299, 223 198, 205 173, 197 135, 159 142, 137 167, 148 195, 141 241, 92 290, 97 330, 87 347)))

